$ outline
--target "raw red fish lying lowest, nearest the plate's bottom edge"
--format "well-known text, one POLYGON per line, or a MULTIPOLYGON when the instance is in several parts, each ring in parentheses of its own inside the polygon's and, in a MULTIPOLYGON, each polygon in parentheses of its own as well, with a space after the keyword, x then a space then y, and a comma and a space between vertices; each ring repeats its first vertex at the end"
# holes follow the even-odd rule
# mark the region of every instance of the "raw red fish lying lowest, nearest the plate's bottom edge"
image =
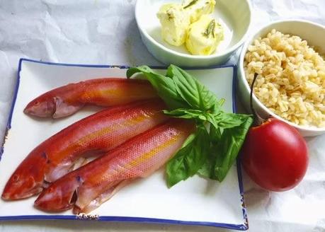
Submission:
POLYGON ((193 129, 188 120, 171 119, 139 134, 53 182, 35 206, 44 211, 74 207, 75 214, 92 211, 131 180, 147 177, 163 166, 193 129))

